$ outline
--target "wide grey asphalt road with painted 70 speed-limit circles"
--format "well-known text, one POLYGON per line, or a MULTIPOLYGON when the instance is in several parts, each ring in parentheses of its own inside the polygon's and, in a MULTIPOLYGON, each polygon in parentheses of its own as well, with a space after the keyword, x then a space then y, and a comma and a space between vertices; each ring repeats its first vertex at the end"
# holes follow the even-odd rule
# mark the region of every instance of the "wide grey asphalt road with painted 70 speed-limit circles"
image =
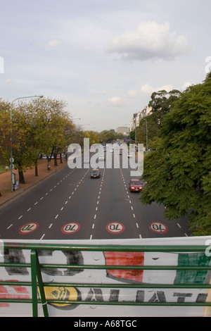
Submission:
MULTIPOLYGON (((117 154, 107 154, 117 158, 117 154)), ((105 161, 106 165, 106 161, 105 161)), ((186 218, 166 220, 164 206, 129 192, 131 169, 63 168, 0 208, 0 239, 129 239, 190 235, 186 218)))

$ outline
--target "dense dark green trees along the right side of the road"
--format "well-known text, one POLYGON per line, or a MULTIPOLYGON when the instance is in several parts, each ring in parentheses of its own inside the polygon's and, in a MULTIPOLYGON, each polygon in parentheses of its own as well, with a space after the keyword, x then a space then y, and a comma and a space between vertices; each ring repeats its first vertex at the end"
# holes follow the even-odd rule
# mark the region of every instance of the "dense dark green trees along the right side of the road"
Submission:
MULTIPOLYGON (((143 204, 163 204, 165 218, 188 216, 192 235, 210 235, 211 73, 202 84, 168 96, 158 92, 150 102, 152 114, 146 120, 153 150, 144 159, 142 178, 147 184, 140 199, 143 204)), ((141 121, 136 130, 142 143, 143 125, 141 121)))

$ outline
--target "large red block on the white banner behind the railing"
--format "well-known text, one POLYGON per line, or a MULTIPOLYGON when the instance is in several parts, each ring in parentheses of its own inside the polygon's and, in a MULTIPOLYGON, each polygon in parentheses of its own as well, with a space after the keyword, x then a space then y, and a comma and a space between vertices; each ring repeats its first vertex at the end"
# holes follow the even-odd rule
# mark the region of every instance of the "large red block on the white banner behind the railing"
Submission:
MULTIPOLYGON (((144 252, 105 251, 108 266, 143 266, 144 252)), ((107 270, 108 277, 143 282, 143 270, 107 270)))

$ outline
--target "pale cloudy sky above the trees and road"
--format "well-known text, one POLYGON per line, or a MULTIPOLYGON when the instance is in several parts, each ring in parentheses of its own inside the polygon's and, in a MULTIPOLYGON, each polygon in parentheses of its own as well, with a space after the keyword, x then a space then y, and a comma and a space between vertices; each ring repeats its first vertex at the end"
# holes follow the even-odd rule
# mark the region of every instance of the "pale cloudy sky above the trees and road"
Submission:
POLYGON ((0 0, 0 98, 63 99, 84 130, 129 126, 152 92, 203 82, 210 13, 210 0, 0 0))

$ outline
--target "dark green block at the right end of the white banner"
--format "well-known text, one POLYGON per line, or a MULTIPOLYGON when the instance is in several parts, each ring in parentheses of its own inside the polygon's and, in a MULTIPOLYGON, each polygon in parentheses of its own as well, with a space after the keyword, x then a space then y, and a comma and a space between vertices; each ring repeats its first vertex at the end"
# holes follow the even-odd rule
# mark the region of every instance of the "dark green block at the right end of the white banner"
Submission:
MULTIPOLYGON (((179 254, 178 266, 209 266, 210 257, 204 253, 179 254)), ((174 284, 203 284, 208 270, 177 270, 174 284)))

